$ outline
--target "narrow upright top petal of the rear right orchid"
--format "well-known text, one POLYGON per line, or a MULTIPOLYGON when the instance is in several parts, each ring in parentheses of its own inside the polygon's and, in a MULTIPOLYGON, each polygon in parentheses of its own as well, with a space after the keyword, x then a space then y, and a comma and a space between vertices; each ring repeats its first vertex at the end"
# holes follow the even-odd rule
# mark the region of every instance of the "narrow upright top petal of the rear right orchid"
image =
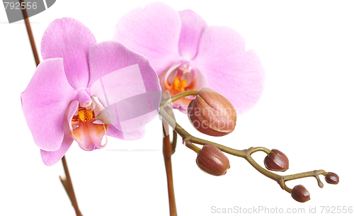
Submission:
POLYGON ((200 35, 207 28, 207 23, 194 11, 179 11, 182 28, 178 43, 178 51, 183 59, 191 60, 198 51, 200 35))

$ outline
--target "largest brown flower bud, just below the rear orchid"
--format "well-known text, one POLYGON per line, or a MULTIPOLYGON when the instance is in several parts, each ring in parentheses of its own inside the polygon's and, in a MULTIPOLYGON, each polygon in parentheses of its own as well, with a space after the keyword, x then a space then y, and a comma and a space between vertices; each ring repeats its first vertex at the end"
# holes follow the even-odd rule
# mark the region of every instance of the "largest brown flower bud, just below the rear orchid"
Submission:
POLYGON ((188 118, 195 129, 216 137, 229 134, 236 126, 234 106, 220 93, 207 88, 190 101, 188 118))

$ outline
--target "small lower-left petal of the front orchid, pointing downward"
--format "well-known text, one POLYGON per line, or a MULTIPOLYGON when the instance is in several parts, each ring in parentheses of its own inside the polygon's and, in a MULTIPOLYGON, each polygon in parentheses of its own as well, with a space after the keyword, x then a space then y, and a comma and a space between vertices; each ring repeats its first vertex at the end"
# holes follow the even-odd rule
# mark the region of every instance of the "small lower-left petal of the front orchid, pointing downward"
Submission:
POLYGON ((65 153, 67 153, 67 150, 69 149, 70 146, 72 146, 72 137, 70 135, 64 135, 64 140, 62 142, 62 145, 60 146, 57 151, 54 152, 46 152, 42 149, 40 149, 40 156, 42 157, 42 161, 45 165, 47 166, 52 166, 54 164, 57 164, 57 162, 62 159, 65 153))

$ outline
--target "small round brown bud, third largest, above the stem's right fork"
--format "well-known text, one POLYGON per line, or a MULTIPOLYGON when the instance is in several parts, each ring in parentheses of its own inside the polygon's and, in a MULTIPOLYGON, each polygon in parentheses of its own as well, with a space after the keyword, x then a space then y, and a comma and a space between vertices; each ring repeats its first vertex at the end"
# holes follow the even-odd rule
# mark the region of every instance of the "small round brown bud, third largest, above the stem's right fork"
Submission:
POLYGON ((267 169, 273 171, 285 171, 289 169, 289 159, 278 149, 272 151, 265 157, 264 165, 267 169))

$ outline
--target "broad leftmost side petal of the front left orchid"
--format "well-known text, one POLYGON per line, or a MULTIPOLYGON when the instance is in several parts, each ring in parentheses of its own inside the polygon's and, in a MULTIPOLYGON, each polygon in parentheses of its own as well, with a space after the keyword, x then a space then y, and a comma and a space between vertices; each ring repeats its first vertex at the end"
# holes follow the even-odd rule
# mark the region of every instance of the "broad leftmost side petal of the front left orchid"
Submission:
POLYGON ((64 138, 65 110, 75 96, 64 74, 62 58, 47 59, 38 65, 21 93, 21 101, 25 120, 40 149, 59 149, 64 138))

